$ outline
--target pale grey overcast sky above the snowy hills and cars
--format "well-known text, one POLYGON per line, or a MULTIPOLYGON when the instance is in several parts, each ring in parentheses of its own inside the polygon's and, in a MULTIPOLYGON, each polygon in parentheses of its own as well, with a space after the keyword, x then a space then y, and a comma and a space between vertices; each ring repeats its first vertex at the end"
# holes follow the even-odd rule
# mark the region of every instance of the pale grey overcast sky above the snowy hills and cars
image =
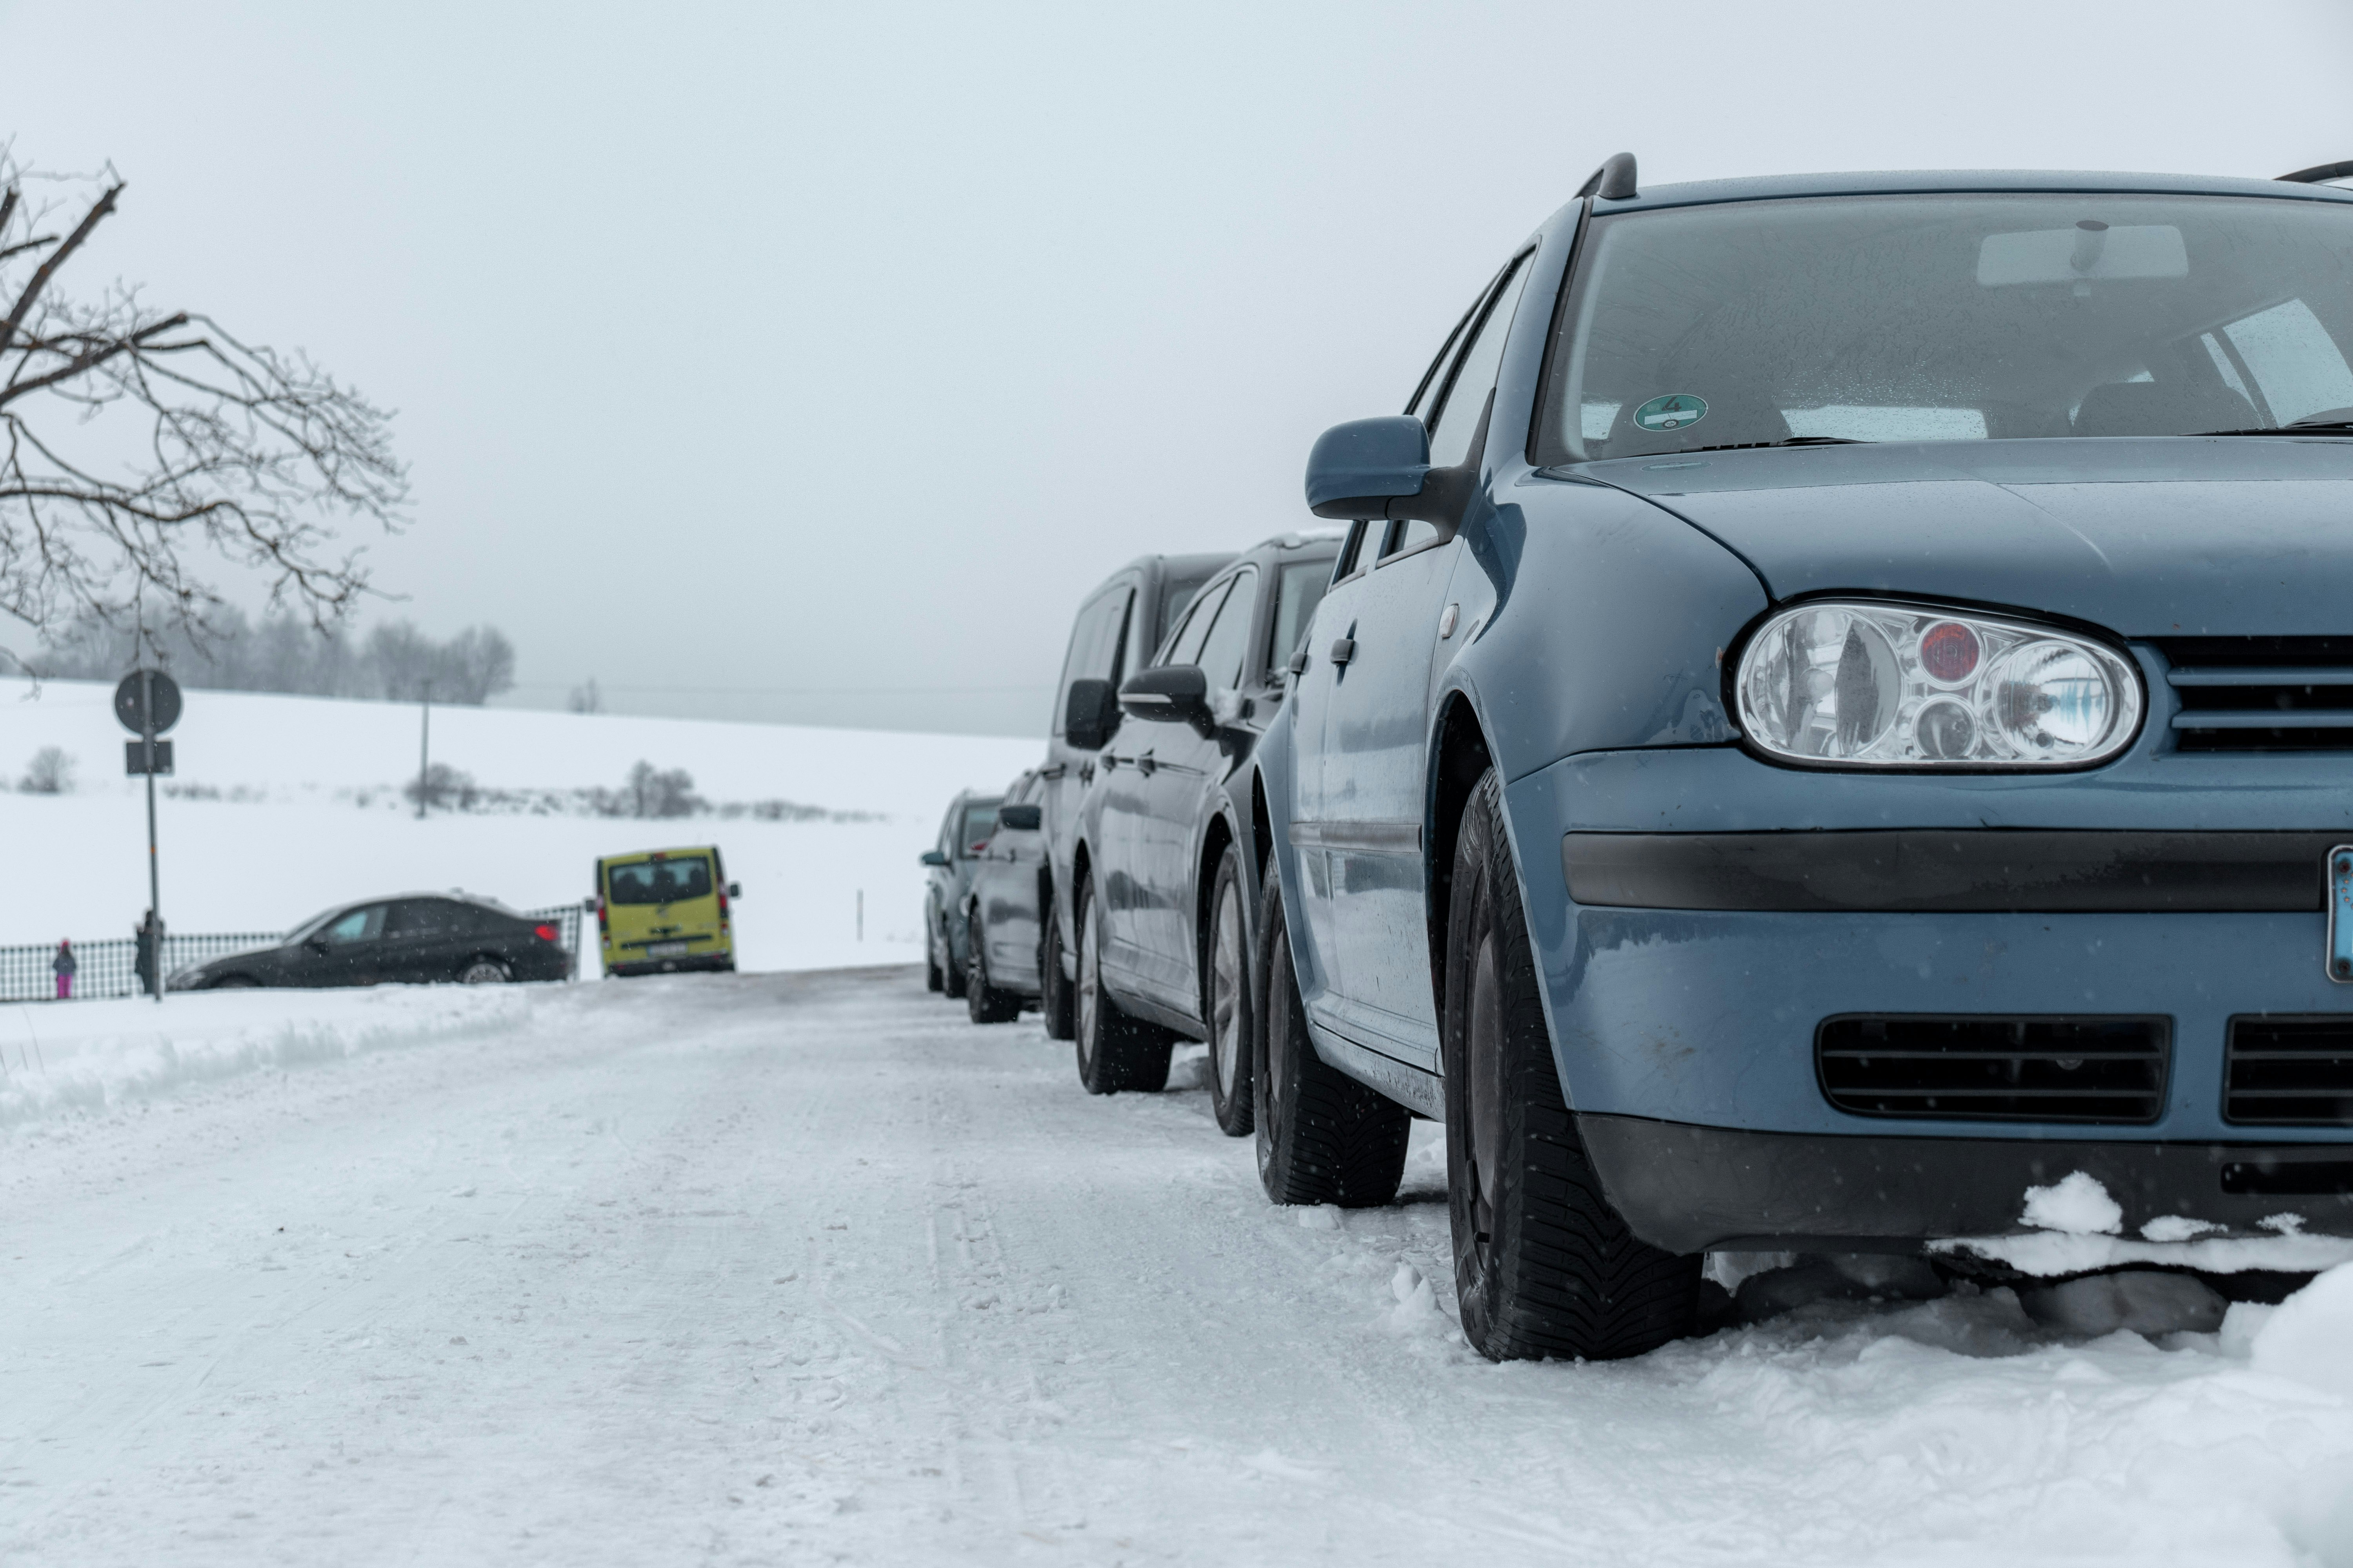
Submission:
POLYGON ((1619 148, 1642 181, 2353 158, 2353 5, 0 0, 80 263, 400 411, 379 588, 515 701, 1042 733, 1078 597, 1311 522, 1619 148))

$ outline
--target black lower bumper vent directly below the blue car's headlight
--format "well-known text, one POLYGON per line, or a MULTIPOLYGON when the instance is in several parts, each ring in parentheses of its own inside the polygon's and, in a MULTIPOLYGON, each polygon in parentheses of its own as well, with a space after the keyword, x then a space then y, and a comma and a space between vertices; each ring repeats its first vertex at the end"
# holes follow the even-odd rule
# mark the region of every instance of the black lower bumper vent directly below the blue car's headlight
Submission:
POLYGON ((1847 1016, 1814 1067, 1857 1117, 2155 1121, 2169 1044, 2165 1018, 1847 1016))

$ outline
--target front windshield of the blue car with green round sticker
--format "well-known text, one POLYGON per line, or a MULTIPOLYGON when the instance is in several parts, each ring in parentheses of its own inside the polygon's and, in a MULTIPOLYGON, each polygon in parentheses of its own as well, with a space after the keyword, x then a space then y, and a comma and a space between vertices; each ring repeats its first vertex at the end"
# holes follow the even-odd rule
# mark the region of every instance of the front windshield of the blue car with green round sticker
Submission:
POLYGON ((1539 463, 2353 418, 2353 205, 1847 195, 1586 244, 1539 463))

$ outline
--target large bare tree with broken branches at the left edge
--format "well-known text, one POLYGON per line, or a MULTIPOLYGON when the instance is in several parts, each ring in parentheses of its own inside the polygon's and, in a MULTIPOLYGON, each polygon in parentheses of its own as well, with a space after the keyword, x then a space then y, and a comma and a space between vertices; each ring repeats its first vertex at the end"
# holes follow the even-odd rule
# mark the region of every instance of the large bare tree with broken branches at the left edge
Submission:
POLYGON ((202 548, 325 628, 367 585, 336 527, 398 527, 391 416, 306 355, 136 287, 68 294, 61 275, 122 188, 111 167, 42 176, 0 146, 0 614, 202 635, 221 607, 202 548))

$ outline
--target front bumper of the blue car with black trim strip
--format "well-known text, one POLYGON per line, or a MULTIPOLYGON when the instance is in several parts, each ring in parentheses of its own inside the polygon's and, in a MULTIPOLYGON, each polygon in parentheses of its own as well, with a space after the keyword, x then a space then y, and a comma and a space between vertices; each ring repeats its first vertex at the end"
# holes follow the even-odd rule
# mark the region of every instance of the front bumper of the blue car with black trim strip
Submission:
MULTIPOLYGON (((1998 1234, 2017 1227, 2026 1187, 2082 1168, 2125 1204, 2127 1227, 2179 1213, 2245 1229, 2299 1213, 2353 1232, 2334 1175, 2308 1173, 2313 1192, 2221 1185, 2226 1168, 2266 1159, 2353 1161, 2353 1126, 2224 1114, 2233 1018, 2353 1018, 2353 985, 2325 969, 2320 898, 2327 844, 2353 842, 2341 762, 2184 757, 2155 773, 1798 773, 1689 748, 1572 757, 1513 780, 1560 1081, 1635 1229, 1678 1251, 1998 1234), (2080 856, 2019 898, 2026 910, 2002 907, 1984 844, 1934 837, 1986 827, 2075 851, 2113 835, 2120 853, 2080 856), (1889 853, 1847 856, 1828 882, 1737 839, 1680 865, 1586 853, 1579 884, 1619 903, 1569 893, 1569 835, 1791 830, 1880 835, 1889 853), (2200 853, 2231 851, 2221 835, 2261 835, 2249 844, 2268 860, 2205 875, 2200 853), (1593 867, 1614 882, 1591 882, 1593 867), (1624 903, 1668 872, 1687 889, 1675 900, 1697 907, 1624 903), (1889 903, 1906 889, 1920 896, 1889 903), (1817 1030, 1835 1016, 2162 1016, 2162 1100, 2132 1124, 1854 1114, 1817 1070, 1817 1030)), ((2049 867, 2040 849, 2031 858, 2049 867)))

